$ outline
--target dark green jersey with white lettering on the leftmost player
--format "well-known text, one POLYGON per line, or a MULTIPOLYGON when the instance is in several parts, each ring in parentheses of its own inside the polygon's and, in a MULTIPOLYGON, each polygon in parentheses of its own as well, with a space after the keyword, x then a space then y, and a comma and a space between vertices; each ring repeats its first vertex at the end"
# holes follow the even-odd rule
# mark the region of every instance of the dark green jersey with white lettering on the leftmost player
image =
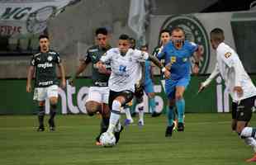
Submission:
POLYGON ((47 53, 34 54, 31 57, 31 66, 36 68, 35 87, 49 87, 58 85, 59 81, 56 73, 56 64, 59 64, 59 54, 50 50, 47 53))

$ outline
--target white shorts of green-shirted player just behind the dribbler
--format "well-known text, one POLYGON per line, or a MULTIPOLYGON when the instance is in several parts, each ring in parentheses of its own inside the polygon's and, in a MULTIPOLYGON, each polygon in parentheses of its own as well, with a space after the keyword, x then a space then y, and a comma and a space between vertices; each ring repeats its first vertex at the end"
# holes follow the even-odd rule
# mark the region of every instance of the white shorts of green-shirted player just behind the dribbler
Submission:
POLYGON ((88 101, 97 101, 108 104, 109 88, 108 87, 90 87, 88 92, 88 101))

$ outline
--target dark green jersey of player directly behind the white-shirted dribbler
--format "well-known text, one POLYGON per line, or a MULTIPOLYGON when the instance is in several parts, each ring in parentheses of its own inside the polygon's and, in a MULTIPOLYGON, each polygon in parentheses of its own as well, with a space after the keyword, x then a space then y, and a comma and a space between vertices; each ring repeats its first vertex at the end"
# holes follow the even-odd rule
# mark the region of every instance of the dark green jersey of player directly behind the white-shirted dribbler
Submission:
POLYGON ((87 53, 83 57, 83 60, 85 61, 86 64, 92 62, 92 81, 94 86, 99 86, 99 87, 108 86, 107 82, 110 75, 99 73, 95 65, 101 59, 102 55, 105 54, 107 50, 110 50, 110 49, 111 49, 111 46, 108 46, 106 49, 102 49, 98 45, 94 45, 88 49, 87 53))

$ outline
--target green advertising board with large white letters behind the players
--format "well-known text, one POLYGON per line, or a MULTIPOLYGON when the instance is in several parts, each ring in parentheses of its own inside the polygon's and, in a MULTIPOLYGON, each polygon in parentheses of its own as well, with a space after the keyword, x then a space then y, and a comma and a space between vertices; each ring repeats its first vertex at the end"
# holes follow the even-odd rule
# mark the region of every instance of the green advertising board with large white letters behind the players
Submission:
MULTIPOLYGON (((204 81, 208 75, 192 76, 190 85, 185 92, 186 112, 215 113, 229 112, 230 101, 221 78, 213 81, 205 91, 197 95, 199 83, 204 81)), ((256 75, 252 78, 256 80, 256 75)), ((155 79, 155 92, 157 111, 165 111, 167 101, 164 94, 163 83, 160 78, 155 79)), ((85 114, 84 102, 87 99, 88 87, 92 80, 78 78, 76 87, 68 86, 59 89, 59 113, 60 114, 85 114)), ((36 101, 32 101, 33 93, 26 93, 26 79, 0 79, 1 92, 1 115, 25 115, 36 114, 36 101)), ((148 112, 148 104, 145 99, 145 111, 148 112)), ((49 102, 46 101, 45 111, 49 113, 49 102)))

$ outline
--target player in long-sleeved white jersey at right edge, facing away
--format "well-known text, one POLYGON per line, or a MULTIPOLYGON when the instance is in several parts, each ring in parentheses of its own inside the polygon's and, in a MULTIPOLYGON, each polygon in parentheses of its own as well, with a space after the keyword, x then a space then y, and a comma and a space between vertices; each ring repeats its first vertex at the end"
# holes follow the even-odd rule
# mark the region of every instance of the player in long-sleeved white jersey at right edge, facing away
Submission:
MULTIPOLYGON (((229 45, 226 45, 224 40, 224 32, 220 28, 211 31, 211 46, 216 50, 217 63, 211 76, 201 83, 199 92, 218 74, 221 75, 230 97, 237 103, 236 111, 233 110, 232 113, 236 125, 235 130, 246 144, 254 148, 254 153, 256 153, 256 140, 254 139, 256 128, 248 126, 255 108, 256 87, 245 72, 238 54, 229 45)), ((256 162, 256 154, 254 158, 248 159, 247 162, 256 162)))

